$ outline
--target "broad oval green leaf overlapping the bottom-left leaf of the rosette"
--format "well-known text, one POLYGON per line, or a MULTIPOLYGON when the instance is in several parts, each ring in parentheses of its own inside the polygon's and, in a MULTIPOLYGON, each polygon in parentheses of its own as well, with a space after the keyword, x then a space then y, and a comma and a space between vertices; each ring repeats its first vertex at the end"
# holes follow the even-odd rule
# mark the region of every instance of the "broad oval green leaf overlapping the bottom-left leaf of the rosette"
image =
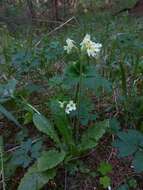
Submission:
POLYGON ((38 159, 39 171, 46 171, 56 167, 65 158, 65 152, 59 152, 57 150, 49 150, 43 152, 42 156, 38 159))

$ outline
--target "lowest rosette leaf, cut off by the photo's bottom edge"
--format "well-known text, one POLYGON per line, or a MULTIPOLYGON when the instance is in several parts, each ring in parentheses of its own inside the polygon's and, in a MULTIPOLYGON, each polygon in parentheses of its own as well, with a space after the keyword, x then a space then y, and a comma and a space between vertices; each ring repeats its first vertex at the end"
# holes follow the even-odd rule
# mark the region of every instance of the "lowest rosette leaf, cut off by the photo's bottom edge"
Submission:
POLYGON ((28 169, 28 172, 22 178, 18 190, 40 190, 55 177, 55 170, 48 172, 39 172, 36 164, 28 169))

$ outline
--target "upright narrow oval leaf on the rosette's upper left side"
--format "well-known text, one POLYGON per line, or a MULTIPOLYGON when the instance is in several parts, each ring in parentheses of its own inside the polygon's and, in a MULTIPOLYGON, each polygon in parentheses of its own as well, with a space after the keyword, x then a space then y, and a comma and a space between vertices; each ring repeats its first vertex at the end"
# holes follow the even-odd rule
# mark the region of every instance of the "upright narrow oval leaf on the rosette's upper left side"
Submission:
POLYGON ((48 135, 57 144, 60 143, 60 140, 58 138, 58 135, 57 135, 54 127, 50 124, 50 122, 48 121, 48 119, 46 117, 44 117, 43 115, 41 115, 39 113, 35 113, 33 115, 33 122, 39 131, 48 135))

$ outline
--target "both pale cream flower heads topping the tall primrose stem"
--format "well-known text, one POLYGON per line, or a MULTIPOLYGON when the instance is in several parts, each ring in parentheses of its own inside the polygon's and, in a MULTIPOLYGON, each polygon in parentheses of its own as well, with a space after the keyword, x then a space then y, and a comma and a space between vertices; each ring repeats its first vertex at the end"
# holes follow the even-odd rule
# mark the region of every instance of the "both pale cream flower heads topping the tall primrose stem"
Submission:
MULTIPOLYGON (((73 48, 77 48, 75 42, 69 38, 66 40, 66 43, 67 45, 64 46, 64 50, 68 54, 71 53, 73 48)), ((80 43, 80 46, 81 46, 81 51, 87 52, 87 55, 89 57, 94 57, 94 58, 98 56, 102 48, 102 44, 93 42, 89 34, 85 35, 83 41, 80 43)))

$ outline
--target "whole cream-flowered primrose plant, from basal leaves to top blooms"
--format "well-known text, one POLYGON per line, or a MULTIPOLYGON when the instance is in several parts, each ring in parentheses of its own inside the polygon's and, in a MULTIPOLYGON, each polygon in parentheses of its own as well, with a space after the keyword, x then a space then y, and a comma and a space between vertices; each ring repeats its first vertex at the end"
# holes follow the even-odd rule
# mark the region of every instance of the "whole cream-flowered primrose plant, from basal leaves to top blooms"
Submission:
POLYGON ((49 102, 50 117, 45 117, 27 104, 33 109, 34 125, 53 141, 54 148, 45 148, 28 169, 18 190, 27 187, 32 190, 41 189, 55 177, 58 166, 64 165, 66 168, 73 160, 95 148, 108 129, 108 120, 96 121, 91 98, 91 94, 103 89, 111 90, 110 83, 96 72, 96 64, 93 63, 99 59, 101 48, 102 44, 93 42, 89 34, 79 45, 67 39, 64 50, 68 64, 63 74, 49 81, 54 86, 58 79, 58 93, 49 102))

